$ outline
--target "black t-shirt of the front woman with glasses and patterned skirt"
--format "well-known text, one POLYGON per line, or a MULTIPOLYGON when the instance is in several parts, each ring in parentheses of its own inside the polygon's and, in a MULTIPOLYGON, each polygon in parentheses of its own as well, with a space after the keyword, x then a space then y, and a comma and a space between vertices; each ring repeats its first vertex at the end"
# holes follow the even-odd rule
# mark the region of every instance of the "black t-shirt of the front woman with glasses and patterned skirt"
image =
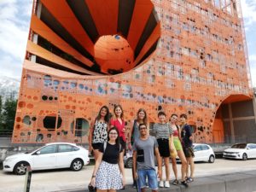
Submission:
POLYGON ((102 143, 101 148, 99 149, 100 152, 103 153, 102 160, 106 161, 107 163, 117 164, 119 161, 119 153, 122 152, 122 148, 118 144, 109 144, 107 143, 107 147, 104 152, 104 143, 102 143))

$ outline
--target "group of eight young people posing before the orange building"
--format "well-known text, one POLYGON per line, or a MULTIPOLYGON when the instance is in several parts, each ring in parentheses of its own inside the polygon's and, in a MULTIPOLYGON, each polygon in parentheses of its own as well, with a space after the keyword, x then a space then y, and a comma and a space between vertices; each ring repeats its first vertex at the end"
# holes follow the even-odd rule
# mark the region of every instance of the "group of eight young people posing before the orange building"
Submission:
POLYGON ((170 187, 170 159, 175 175, 172 184, 177 185, 176 156, 182 163, 181 184, 188 187, 188 182, 194 180, 193 131, 187 124, 186 114, 180 115, 179 126, 177 114, 173 113, 168 122, 166 113, 160 111, 159 122, 153 126, 154 136, 149 135, 147 113, 143 108, 138 110, 137 118, 132 121, 128 133, 125 130, 124 112, 120 105, 114 106, 113 116, 109 118, 109 109, 103 106, 90 125, 88 137, 89 149, 93 151, 96 160, 90 183, 98 192, 113 192, 125 188, 126 146, 133 150, 133 185, 141 191, 145 191, 147 187, 152 191, 157 191, 158 187, 170 187), (155 171, 154 156, 157 160, 158 172, 155 171), (165 181, 162 174, 163 160, 166 168, 165 181), (159 183, 157 175, 160 177, 159 183))

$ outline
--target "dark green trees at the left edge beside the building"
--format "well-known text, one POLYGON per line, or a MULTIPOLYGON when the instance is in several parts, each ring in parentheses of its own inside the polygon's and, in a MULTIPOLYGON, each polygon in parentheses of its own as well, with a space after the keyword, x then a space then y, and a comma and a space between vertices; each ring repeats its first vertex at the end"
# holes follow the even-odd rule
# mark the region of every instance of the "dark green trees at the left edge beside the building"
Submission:
POLYGON ((17 100, 8 98, 5 102, 0 99, 0 131, 13 131, 17 100))

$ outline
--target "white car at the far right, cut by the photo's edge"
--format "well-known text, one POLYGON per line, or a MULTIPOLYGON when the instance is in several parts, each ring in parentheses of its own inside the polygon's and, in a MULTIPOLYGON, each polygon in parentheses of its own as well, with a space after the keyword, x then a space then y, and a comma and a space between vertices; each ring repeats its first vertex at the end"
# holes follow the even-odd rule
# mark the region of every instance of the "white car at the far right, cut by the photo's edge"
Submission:
POLYGON ((224 158, 247 160, 256 158, 256 144, 254 143, 237 143, 231 148, 227 148, 223 153, 224 158))

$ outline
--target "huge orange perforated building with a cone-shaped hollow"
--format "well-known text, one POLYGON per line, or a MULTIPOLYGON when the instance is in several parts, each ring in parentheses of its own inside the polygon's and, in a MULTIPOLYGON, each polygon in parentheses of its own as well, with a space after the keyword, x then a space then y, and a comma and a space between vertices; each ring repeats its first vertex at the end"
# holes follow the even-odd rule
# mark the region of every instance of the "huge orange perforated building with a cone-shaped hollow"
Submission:
POLYGON ((34 0, 12 141, 87 143, 114 104, 128 129, 145 108, 187 113, 198 143, 248 140, 246 50, 238 0, 34 0))

